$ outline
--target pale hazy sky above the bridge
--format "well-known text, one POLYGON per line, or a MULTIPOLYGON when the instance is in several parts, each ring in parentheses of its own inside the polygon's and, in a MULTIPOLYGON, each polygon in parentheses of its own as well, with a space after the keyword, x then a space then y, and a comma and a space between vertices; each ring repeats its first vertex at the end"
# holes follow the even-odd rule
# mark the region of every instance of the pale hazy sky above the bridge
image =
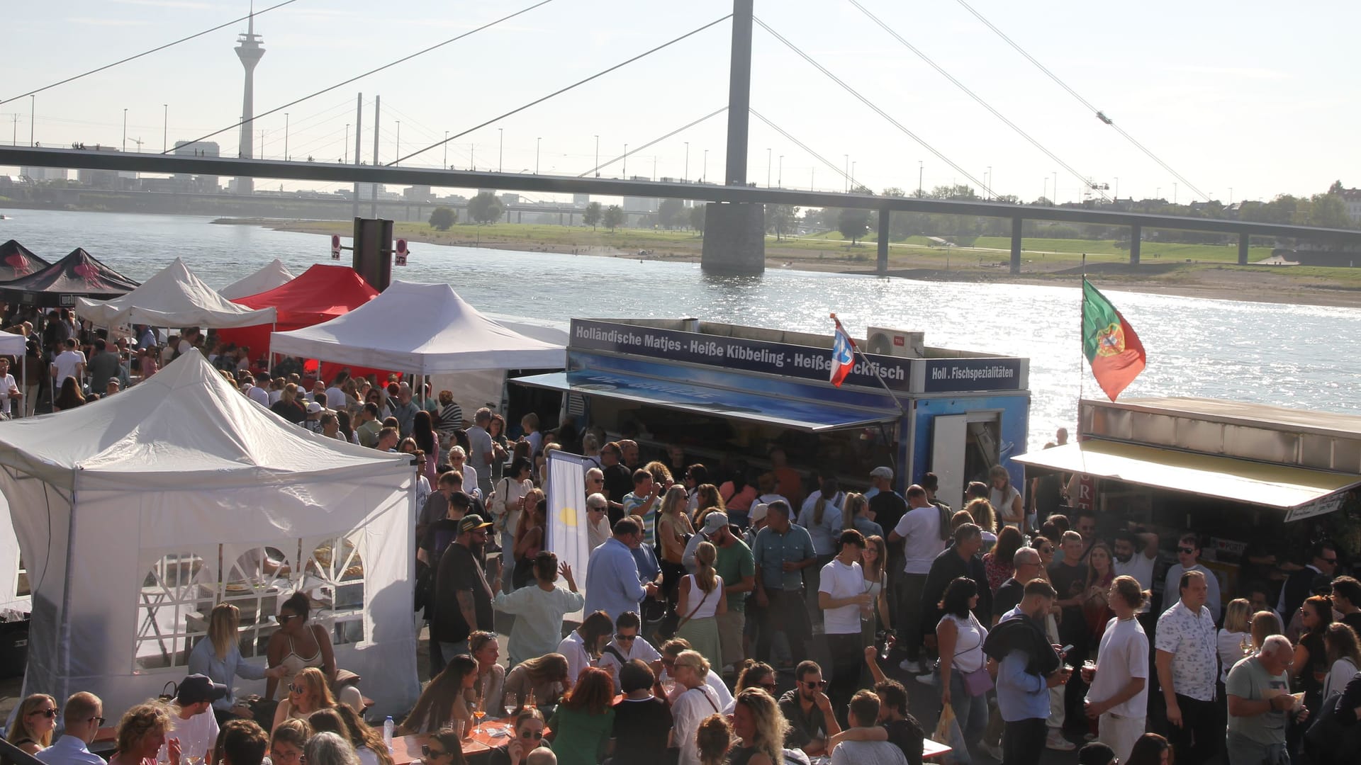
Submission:
MULTIPOLYGON (((259 0, 256 8, 276 1, 259 0)), ((535 1, 297 0, 261 14, 256 33, 264 38, 265 56, 256 69, 256 114, 535 1)), ((1361 123, 1361 103, 1350 98, 1354 74, 1349 74, 1354 71, 1350 37, 1361 26, 1361 4, 969 1, 1206 196, 1271 199, 1322 192, 1338 178, 1347 186, 1361 182, 1351 173, 1361 159, 1353 128, 1361 123)), ((1117 188, 1121 197, 1170 200, 1176 193, 1183 203, 1198 197, 960 3, 860 3, 1075 173, 969 98, 849 0, 755 0, 758 19, 916 139, 758 25, 751 106, 796 140, 753 117, 750 181, 838 191, 847 180, 837 170, 853 163, 855 181, 875 192, 887 186, 912 191, 919 177, 927 189, 976 185, 972 176, 989 181, 998 195, 1028 201, 1041 195, 1077 201, 1085 180, 1109 184, 1112 196, 1117 188)), ((0 143, 121 146, 127 110, 128 148, 135 151, 142 140, 143 151, 161 151, 163 140, 197 139, 240 118, 242 69, 233 48, 245 22, 31 99, 15 97, 242 16, 249 8, 245 0, 8 5, 0 143)), ((410 154, 434 144, 445 131, 459 133, 493 120, 731 10, 731 0, 553 0, 259 117, 255 151, 283 158, 287 140, 294 159, 352 161, 354 109, 362 91, 363 157, 372 161, 373 98, 381 95, 378 157, 391 162, 399 148, 410 154)), ((727 105, 729 42, 731 25, 724 20, 456 139, 448 162, 460 169, 576 176, 596 165, 599 136, 602 162, 630 146, 629 176, 721 181, 723 113, 649 148, 637 147, 727 105)), ((238 129, 208 140, 222 144, 223 155, 234 155, 238 129)), ((436 148, 403 165, 441 166, 444 151, 436 148)), ((0 167, 0 173, 16 169, 0 167)), ((623 166, 617 162, 602 174, 622 176, 623 166)), ((259 181, 257 188, 276 184, 259 181)), ((283 182, 286 189, 316 184, 283 182)))

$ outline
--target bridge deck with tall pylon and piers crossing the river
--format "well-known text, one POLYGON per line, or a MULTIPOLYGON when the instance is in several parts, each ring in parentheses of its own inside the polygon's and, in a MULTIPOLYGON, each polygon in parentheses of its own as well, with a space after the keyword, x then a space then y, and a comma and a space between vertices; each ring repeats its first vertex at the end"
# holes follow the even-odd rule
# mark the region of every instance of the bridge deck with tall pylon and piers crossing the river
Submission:
MULTIPOLYGON (((633 196, 705 201, 709 204, 709 208, 705 222, 704 256, 701 263, 705 270, 716 272, 753 274, 761 272, 765 268, 764 206, 766 204, 878 211, 879 231, 876 265, 879 274, 887 272, 890 219, 896 212, 925 212, 1010 219, 1010 267, 1013 274, 1019 274, 1021 271, 1021 230, 1025 221, 1127 226, 1130 229, 1131 264, 1139 263, 1139 250, 1145 229, 1209 231, 1236 235, 1239 245, 1237 261, 1244 265, 1248 263, 1248 244, 1251 237, 1281 237, 1323 242, 1330 246, 1361 246, 1361 230, 1319 229, 1311 226, 1253 223, 1209 218, 1187 218, 1177 215, 1151 215, 1104 210, 1100 207, 1075 208, 1021 206, 1002 201, 891 197, 859 193, 758 188, 754 184, 749 184, 746 177, 749 154, 749 116, 751 114, 750 87, 751 30, 754 20, 753 4, 754 0, 734 0, 734 12, 731 15, 732 46, 727 108, 727 163, 724 184, 721 185, 583 176, 493 173, 397 165, 350 165, 335 162, 184 157, 151 152, 108 152, 82 148, 48 148, 37 146, 0 146, 0 165, 125 170, 143 173, 186 173, 200 176, 230 176, 241 178, 274 178, 346 184, 429 185, 467 189, 485 188, 514 192, 559 195, 588 193, 597 196, 633 196)), ((761 26, 765 27, 764 23, 761 23, 761 26)), ((766 29, 769 30, 769 27, 766 29)), ((770 31, 772 34, 776 34, 773 30, 770 31)), ((529 105, 532 103, 535 102, 531 102, 529 105)), ((889 118, 886 114, 883 116, 889 118)), ((358 161, 359 158, 357 151, 355 162, 358 161)), ((539 208, 536 211, 542 212, 544 210, 539 208)))

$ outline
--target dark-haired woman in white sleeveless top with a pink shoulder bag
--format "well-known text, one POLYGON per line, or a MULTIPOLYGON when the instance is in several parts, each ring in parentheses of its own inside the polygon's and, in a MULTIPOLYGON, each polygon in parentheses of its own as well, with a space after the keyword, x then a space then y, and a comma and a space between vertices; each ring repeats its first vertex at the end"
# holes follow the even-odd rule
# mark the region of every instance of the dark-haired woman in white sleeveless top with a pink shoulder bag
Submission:
MULTIPOLYGON (((965 675, 979 671, 987 674, 987 656, 983 641, 988 637, 970 608, 979 604, 979 585, 972 579, 961 576, 945 588, 940 610, 945 617, 936 623, 936 645, 940 648, 940 664, 936 667, 940 702, 954 709, 964 740, 981 742, 988 726, 988 689, 969 693, 965 675)), ((987 682, 991 687, 991 681, 987 682)), ((955 762, 970 762, 968 751, 955 751, 955 762)))

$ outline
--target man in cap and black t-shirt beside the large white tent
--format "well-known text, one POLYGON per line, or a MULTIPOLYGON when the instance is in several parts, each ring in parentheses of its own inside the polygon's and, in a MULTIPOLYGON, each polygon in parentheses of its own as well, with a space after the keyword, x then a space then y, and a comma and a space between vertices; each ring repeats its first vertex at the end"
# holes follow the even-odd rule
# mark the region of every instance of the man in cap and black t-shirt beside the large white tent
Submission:
MULTIPOLYGON (((430 638, 440 642, 445 659, 468 652, 468 634, 474 630, 491 632, 493 587, 499 589, 499 573, 487 583, 478 558, 487 543, 491 524, 480 516, 464 516, 459 521, 459 536, 440 557, 434 579, 434 615, 430 619, 430 638)), ((444 667, 430 668, 431 677, 444 667)))

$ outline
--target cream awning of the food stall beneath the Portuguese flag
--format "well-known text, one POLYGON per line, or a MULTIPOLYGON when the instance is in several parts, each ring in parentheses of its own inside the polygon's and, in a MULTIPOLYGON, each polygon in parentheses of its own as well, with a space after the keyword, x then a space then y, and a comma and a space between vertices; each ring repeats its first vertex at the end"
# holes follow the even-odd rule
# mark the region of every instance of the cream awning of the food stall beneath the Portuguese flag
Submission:
POLYGON ((1258 463, 1117 441, 1089 440, 1013 457, 1030 467, 1082 472, 1289 510, 1286 520, 1330 513, 1361 475, 1258 463))

